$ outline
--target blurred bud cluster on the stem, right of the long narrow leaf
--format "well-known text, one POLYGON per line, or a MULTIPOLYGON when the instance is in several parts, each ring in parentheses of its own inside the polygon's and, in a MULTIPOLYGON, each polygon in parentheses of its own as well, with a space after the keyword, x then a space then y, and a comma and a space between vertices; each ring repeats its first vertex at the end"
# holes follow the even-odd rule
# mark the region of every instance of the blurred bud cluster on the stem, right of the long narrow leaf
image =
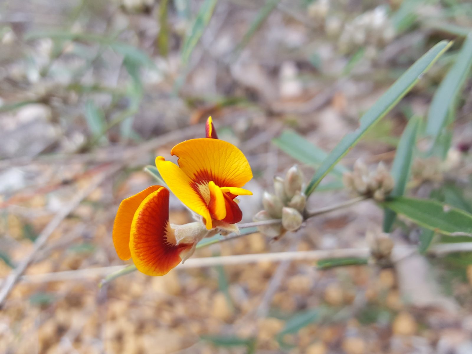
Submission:
POLYGON ((353 172, 344 174, 343 182, 355 194, 372 197, 377 202, 383 202, 395 185, 393 177, 382 162, 375 171, 370 172, 361 160, 354 163, 353 172))

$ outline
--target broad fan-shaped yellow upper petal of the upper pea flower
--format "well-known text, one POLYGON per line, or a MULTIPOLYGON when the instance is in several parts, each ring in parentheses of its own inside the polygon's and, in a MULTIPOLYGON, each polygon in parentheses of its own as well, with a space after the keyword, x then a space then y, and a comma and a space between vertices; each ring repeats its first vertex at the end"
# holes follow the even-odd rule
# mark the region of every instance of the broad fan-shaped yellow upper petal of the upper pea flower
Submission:
POLYGON ((223 140, 186 140, 174 146, 170 153, 179 157, 178 165, 194 181, 242 187, 253 177, 243 152, 223 140))

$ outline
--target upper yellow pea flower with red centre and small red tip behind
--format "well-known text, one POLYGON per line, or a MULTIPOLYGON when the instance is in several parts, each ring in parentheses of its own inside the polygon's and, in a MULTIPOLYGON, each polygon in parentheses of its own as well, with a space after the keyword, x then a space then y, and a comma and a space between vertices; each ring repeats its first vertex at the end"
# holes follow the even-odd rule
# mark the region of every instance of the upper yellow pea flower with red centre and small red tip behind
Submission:
POLYGON ((241 221, 243 214, 234 199, 238 195, 252 195, 242 187, 253 173, 241 150, 217 138, 211 117, 206 136, 172 148, 170 153, 177 155, 178 165, 158 156, 156 167, 172 193, 201 215, 206 228, 211 229, 221 222, 241 221))

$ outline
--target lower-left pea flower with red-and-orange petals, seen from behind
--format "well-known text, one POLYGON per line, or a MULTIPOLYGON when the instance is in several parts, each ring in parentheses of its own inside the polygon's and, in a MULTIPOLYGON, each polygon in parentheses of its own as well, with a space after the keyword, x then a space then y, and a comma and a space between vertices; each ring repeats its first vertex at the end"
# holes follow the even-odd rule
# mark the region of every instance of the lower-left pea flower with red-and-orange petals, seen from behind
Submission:
POLYGON ((152 185, 121 202, 113 225, 113 244, 119 258, 133 258, 144 274, 167 274, 180 263, 181 253, 193 252, 200 241, 178 236, 169 224, 167 188, 152 185))

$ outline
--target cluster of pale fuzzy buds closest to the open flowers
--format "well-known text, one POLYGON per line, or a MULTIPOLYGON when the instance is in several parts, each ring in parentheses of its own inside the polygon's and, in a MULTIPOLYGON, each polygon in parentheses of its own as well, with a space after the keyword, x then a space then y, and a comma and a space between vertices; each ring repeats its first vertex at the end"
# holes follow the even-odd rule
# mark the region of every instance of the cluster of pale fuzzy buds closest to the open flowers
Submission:
POLYGON ((264 192, 264 210, 254 216, 254 221, 282 219, 282 222, 259 226, 262 234, 278 238, 286 231, 300 228, 306 204, 306 196, 302 190, 303 174, 296 165, 288 169, 285 179, 274 177, 274 194, 264 192))

